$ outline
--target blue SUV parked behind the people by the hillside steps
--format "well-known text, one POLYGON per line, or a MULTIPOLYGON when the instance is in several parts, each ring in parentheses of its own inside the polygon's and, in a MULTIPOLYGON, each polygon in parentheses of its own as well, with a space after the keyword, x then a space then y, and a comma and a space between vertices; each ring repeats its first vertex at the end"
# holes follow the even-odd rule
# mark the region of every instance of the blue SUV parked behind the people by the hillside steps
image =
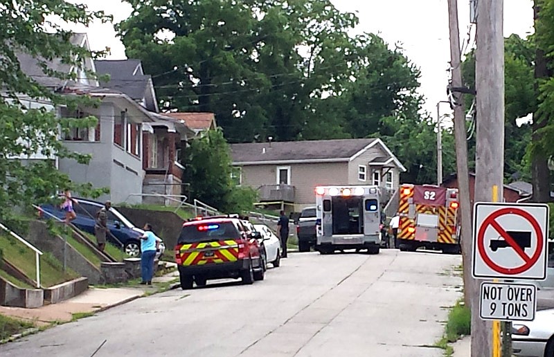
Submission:
MULTIPOLYGON (((73 199, 78 201, 79 204, 73 205, 73 209, 75 210, 77 217, 71 221, 71 223, 73 223, 80 230, 93 235, 96 212, 98 212, 104 204, 88 199, 73 199)), ((59 219, 65 219, 65 212, 62 211, 60 207, 46 204, 41 205, 40 208, 42 208, 45 212, 53 214, 59 219)), ((45 219, 51 218, 48 217, 48 214, 44 214, 42 212, 40 213, 45 219)), ((111 243, 116 246, 121 246, 123 244, 125 253, 131 257, 138 257, 141 254, 141 241, 139 237, 144 234, 144 231, 140 228, 136 228, 133 223, 131 223, 127 218, 125 218, 125 216, 123 216, 123 214, 118 212, 118 210, 113 207, 110 208, 108 212, 107 226, 111 232, 111 235, 114 235, 114 237, 118 240, 115 241, 111 235, 107 235, 108 241, 111 241, 111 243)), ((166 250, 166 247, 162 242, 156 257, 158 258, 163 255, 164 250, 166 250)))

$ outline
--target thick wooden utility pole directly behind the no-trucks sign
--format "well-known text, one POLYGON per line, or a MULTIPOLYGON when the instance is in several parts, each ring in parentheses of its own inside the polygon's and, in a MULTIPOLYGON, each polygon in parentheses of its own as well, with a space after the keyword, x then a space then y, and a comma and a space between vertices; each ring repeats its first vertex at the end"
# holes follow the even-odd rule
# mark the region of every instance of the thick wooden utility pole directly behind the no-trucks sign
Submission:
MULTIPOLYGON (((504 174, 504 38, 503 0, 477 3, 477 48, 475 64, 476 100, 476 182, 475 201, 493 200, 499 187, 502 202, 504 174)), ((479 293, 472 306, 479 306, 479 293)), ((472 309, 472 356, 491 356, 492 322, 479 318, 472 309)))

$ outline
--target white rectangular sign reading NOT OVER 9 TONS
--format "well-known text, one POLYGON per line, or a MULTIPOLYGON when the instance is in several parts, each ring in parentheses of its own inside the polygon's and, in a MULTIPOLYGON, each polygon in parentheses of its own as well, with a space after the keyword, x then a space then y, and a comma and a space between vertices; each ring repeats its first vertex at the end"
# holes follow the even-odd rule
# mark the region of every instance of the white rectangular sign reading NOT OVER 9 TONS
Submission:
POLYGON ((479 317, 483 320, 533 321, 537 311, 537 286, 482 282, 479 300, 479 317))

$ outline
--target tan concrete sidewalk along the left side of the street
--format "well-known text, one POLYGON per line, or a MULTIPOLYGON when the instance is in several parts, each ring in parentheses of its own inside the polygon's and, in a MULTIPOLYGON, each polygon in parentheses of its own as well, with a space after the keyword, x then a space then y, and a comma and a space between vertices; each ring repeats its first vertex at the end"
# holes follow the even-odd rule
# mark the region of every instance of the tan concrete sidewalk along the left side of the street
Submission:
MULTIPOLYGON (((145 293, 157 293, 162 286, 165 288, 169 282, 172 282, 178 276, 179 273, 173 272, 161 277, 154 277, 152 285, 107 289, 91 287, 84 293, 69 300, 42 306, 38 309, 0 306, 0 315, 29 320, 34 322, 37 327, 52 324, 53 322, 69 322, 73 320, 73 314, 75 313, 96 313, 135 300, 144 296, 145 293)), ((170 286, 170 288, 172 287, 175 286, 170 286)))

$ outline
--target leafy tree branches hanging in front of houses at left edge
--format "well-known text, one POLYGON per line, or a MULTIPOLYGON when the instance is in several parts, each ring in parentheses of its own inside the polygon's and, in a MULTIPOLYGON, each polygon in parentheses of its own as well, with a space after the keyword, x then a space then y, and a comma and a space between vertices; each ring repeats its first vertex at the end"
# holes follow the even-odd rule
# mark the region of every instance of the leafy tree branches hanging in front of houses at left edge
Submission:
MULTIPOLYGON (((56 190, 69 187, 89 196, 97 194, 91 185, 75 185, 56 170, 53 161, 28 161, 33 154, 74 158, 86 163, 88 156, 69 152, 58 141, 60 127, 89 125, 56 118, 45 107, 28 107, 28 100, 76 108, 87 98, 69 98, 41 86, 21 71, 20 53, 36 58, 44 76, 63 80, 75 74, 60 73, 48 66, 51 60, 80 66, 85 57, 96 55, 73 46, 72 33, 58 23, 88 25, 93 19, 107 20, 102 12, 89 12, 86 6, 63 0, 0 0, 0 219, 13 219, 12 207, 29 206, 51 199, 56 190), (58 22, 55 22, 57 19, 58 22), (60 21, 61 20, 61 21, 60 21)), ((90 102, 89 102, 90 103, 90 102)))

